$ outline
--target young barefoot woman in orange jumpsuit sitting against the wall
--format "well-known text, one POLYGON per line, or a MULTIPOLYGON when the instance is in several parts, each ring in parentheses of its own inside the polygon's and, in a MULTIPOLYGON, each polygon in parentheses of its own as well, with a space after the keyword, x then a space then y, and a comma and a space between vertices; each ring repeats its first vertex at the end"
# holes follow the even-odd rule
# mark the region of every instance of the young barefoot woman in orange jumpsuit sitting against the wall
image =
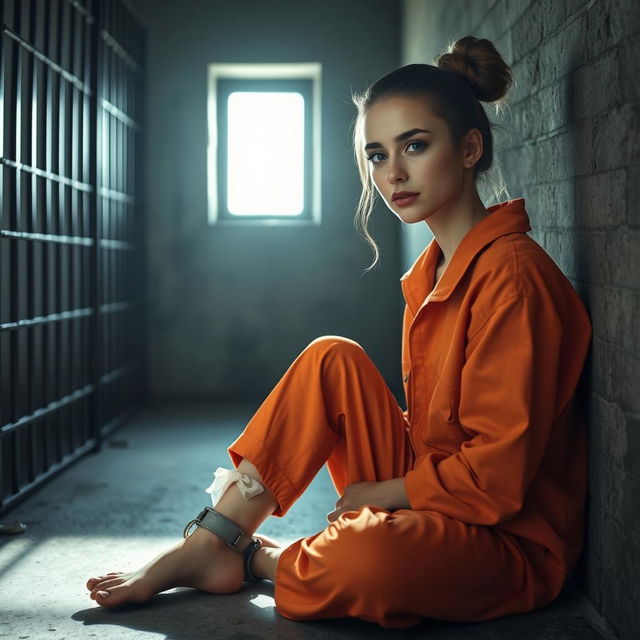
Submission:
POLYGON ((313 340, 228 447, 235 469, 216 471, 214 508, 141 569, 91 578, 98 604, 268 579, 286 618, 405 628, 531 611, 560 592, 583 543, 576 389, 591 323, 527 235, 524 199, 486 208, 476 189, 493 162, 480 101, 506 95, 509 67, 472 36, 436 62, 353 98, 358 220, 376 259, 375 192, 434 234, 401 278, 407 409, 357 342, 313 340), (340 496, 327 527, 287 547, 254 536, 325 462, 340 496))

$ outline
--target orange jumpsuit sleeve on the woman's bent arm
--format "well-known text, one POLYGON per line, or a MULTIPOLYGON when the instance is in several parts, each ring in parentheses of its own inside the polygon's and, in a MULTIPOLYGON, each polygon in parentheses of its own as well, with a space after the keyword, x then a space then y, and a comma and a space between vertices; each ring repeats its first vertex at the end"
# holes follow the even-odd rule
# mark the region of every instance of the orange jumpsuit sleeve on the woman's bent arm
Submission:
POLYGON ((556 417, 561 341, 555 311, 526 295, 490 314, 461 370, 458 419, 472 437, 416 460, 404 480, 412 509, 481 525, 520 511, 556 417))

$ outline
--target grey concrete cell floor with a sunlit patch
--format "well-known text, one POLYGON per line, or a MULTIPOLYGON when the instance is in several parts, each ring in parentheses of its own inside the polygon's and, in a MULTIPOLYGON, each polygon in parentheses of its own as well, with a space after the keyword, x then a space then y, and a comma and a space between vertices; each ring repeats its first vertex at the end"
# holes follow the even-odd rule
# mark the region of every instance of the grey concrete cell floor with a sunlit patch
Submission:
MULTIPOLYGON (((0 537, 0 638, 614 637, 572 585, 530 614, 480 624, 425 620, 406 630, 355 618, 287 620, 275 610, 270 581, 224 596, 181 587, 122 609, 97 605, 85 587, 90 576, 146 564, 211 504, 204 489, 217 466, 232 468, 226 447, 257 406, 147 410, 114 434, 101 453, 80 459, 5 514, 2 521, 24 522, 27 530, 0 537)), ((258 531, 289 544, 323 529, 336 500, 323 467, 284 518, 271 517, 258 531)))

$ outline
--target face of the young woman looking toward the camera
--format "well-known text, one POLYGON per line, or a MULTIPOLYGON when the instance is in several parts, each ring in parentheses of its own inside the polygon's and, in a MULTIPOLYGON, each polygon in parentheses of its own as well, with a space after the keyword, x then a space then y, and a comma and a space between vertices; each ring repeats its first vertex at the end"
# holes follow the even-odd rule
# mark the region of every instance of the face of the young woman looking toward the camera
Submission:
POLYGON ((373 183, 404 222, 426 220, 459 198, 464 177, 462 152, 454 150, 445 121, 424 101, 379 100, 365 114, 364 137, 373 183), (419 195, 402 206, 402 200, 393 200, 398 191, 419 195))

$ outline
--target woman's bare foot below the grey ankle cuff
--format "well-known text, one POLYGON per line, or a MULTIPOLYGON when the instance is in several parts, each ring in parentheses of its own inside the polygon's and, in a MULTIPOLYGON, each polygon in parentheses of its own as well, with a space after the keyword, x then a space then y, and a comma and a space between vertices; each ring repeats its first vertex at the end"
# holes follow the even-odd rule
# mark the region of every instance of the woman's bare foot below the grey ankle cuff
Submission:
POLYGON ((187 538, 137 571, 111 572, 90 578, 86 586, 91 591, 91 599, 101 606, 114 607, 125 602, 145 602, 154 594, 172 587, 235 593, 242 588, 243 582, 242 554, 231 549, 214 533, 196 527, 187 538), (103 595, 105 593, 109 595, 103 595))

